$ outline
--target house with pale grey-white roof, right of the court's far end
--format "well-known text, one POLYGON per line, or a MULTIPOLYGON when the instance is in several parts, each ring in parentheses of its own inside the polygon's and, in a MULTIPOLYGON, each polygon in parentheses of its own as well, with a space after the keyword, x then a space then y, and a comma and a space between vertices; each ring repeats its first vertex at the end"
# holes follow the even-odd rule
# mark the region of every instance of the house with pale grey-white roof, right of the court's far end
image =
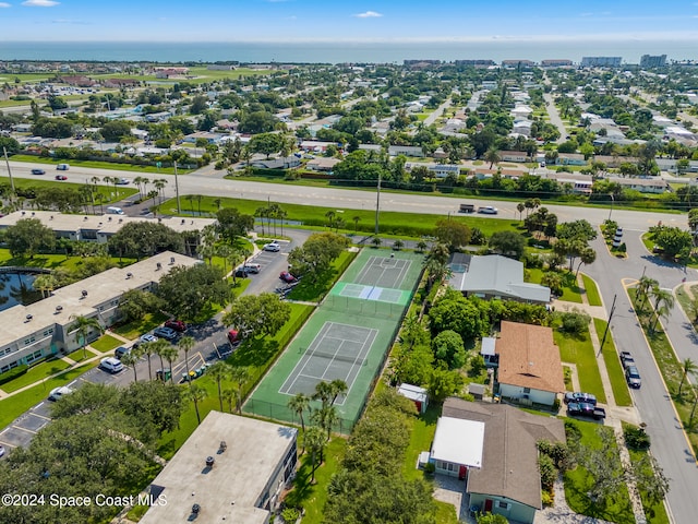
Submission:
POLYGON ((524 264, 500 254, 479 257, 454 253, 448 263, 448 284, 465 296, 520 302, 547 303, 550 288, 524 282, 524 264))

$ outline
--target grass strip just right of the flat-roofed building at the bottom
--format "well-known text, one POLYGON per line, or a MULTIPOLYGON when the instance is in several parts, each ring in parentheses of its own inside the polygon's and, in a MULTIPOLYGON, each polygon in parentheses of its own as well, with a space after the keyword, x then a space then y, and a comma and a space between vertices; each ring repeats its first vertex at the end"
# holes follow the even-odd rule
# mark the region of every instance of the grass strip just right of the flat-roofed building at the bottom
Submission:
POLYGON ((327 486, 345 455, 347 440, 334 437, 325 448, 325 462, 315 471, 315 484, 311 484, 312 462, 310 453, 300 457, 300 467, 293 480, 293 489, 286 496, 286 504, 304 508, 303 524, 320 524, 327 502, 327 486))

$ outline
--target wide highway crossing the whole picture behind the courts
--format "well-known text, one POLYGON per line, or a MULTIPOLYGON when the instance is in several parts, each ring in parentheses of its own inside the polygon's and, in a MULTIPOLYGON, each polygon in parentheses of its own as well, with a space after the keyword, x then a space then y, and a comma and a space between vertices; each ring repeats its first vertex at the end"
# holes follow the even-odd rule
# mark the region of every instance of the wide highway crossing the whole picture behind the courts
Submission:
MULTIPOLYGON (((31 169, 36 165, 29 163, 10 163, 12 167, 12 176, 17 178, 44 178, 52 179, 53 172, 47 169, 44 176, 31 175, 31 169)), ((45 167, 45 166, 44 166, 45 167)), ((65 172, 65 171, 62 171, 65 172)), ((77 181, 86 183, 94 177, 125 177, 133 179, 136 174, 130 171, 119 171, 111 169, 94 169, 80 168, 71 166, 67 172, 68 181, 77 181)), ((7 169, 3 163, 0 163, 0 179, 7 176, 7 169)), ((165 188, 167 198, 174 196, 174 177, 163 174, 141 174, 140 176, 149 179, 166 178, 169 183, 165 188)), ((334 207, 337 210, 375 210, 376 194, 373 191, 358 191, 351 189, 335 188, 311 188, 306 186, 289 186, 276 184, 267 182, 252 182, 243 180, 225 180, 222 171, 214 171, 212 169, 202 169, 198 171, 179 176, 178 183, 180 196, 185 194, 206 194, 214 196, 227 196, 232 199, 246 199, 267 201, 272 200, 278 203, 318 205, 334 207)), ((180 199, 182 206, 186 204, 180 199)), ((490 216, 493 219, 515 219, 518 222, 519 213, 516 211, 517 202, 503 202, 485 199, 457 199, 449 196, 436 196, 410 193, 394 193, 382 191, 381 193, 381 211, 402 211, 407 213, 425 213, 441 214, 446 216, 448 213, 457 214, 461 202, 471 202, 476 205, 492 205, 500 210, 496 216, 490 216)), ((675 213, 649 213, 639 211, 627 211, 613 209, 597 207, 575 207, 570 205, 545 205, 549 211, 555 213, 558 222, 569 222, 586 218, 593 225, 600 225, 611 216, 621 227, 627 230, 646 231, 650 226, 662 222, 665 225, 686 227, 686 216, 675 213)))

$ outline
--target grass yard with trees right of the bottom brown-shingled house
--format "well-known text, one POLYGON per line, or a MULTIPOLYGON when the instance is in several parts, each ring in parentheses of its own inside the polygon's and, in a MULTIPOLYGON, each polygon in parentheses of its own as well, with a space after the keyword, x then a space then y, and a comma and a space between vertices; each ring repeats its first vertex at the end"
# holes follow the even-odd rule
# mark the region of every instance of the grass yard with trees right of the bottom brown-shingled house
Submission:
MULTIPOLYGON (((593 422, 569 419, 567 419, 566 422, 577 427, 581 432, 580 443, 592 449, 600 449, 602 445, 601 438, 597 431, 613 431, 612 428, 606 428, 605 426, 593 422)), ((614 454, 614 460, 617 462, 617 467, 619 468, 621 457, 617 452, 614 454)), ((578 465, 575 469, 565 472, 564 483, 567 503, 576 513, 615 522, 616 524, 635 524, 633 507, 630 505, 627 488, 624 485, 622 485, 606 504, 603 505, 592 502, 587 496, 589 489, 594 484, 594 478, 582 466, 578 465)))

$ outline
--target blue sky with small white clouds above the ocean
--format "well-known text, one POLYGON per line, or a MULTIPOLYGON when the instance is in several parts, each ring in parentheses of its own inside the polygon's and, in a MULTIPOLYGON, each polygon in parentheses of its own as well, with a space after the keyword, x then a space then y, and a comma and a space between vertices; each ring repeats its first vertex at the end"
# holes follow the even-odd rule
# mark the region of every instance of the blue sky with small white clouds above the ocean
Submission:
POLYGON ((0 41, 698 41, 698 0, 0 0, 0 41))

